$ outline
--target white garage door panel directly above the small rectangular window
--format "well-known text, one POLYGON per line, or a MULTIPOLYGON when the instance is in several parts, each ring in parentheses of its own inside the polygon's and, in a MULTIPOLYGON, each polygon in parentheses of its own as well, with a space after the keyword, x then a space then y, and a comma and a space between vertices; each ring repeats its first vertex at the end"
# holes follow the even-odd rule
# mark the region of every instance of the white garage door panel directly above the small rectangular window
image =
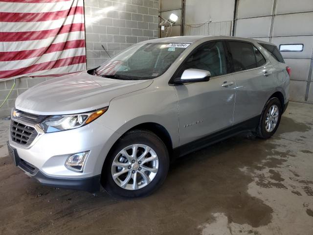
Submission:
POLYGON ((312 34, 313 12, 275 16, 273 36, 312 34))

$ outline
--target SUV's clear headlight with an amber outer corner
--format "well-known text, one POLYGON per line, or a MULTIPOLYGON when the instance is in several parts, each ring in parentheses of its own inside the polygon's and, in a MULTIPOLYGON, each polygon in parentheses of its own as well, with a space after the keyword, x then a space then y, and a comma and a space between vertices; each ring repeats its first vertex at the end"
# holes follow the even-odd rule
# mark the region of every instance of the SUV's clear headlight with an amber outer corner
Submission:
POLYGON ((53 115, 45 119, 41 126, 44 128, 45 133, 75 129, 99 118, 107 110, 108 107, 85 114, 53 115))

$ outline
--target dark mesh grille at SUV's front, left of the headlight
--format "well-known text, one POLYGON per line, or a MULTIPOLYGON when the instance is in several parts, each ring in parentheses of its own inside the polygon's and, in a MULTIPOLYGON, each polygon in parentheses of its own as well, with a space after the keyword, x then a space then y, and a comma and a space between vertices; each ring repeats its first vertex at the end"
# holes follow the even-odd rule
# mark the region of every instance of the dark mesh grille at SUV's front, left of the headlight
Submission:
POLYGON ((29 146, 37 137, 38 133, 34 127, 11 120, 11 139, 12 141, 29 146))

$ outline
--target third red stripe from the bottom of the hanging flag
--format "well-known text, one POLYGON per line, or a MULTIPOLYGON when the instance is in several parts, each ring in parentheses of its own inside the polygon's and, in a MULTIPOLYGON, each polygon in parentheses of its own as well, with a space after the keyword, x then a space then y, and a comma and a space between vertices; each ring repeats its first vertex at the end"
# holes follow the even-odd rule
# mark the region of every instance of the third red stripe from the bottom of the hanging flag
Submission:
POLYGON ((20 42, 20 41, 31 41, 40 40, 49 37, 55 37, 56 35, 85 31, 84 23, 77 24, 66 24, 60 28, 47 29, 41 31, 26 31, 26 32, 0 32, 0 42, 20 42))

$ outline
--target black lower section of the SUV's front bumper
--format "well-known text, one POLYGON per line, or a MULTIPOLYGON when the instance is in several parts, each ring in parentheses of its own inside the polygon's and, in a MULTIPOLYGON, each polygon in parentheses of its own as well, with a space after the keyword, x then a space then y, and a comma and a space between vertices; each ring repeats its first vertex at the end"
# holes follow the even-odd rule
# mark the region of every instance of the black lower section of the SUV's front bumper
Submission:
POLYGON ((100 190, 100 175, 79 179, 49 177, 36 166, 20 158, 17 150, 9 144, 9 141, 7 144, 9 154, 11 155, 14 164, 20 167, 25 174, 39 181, 42 185, 55 188, 83 190, 91 193, 100 190))

